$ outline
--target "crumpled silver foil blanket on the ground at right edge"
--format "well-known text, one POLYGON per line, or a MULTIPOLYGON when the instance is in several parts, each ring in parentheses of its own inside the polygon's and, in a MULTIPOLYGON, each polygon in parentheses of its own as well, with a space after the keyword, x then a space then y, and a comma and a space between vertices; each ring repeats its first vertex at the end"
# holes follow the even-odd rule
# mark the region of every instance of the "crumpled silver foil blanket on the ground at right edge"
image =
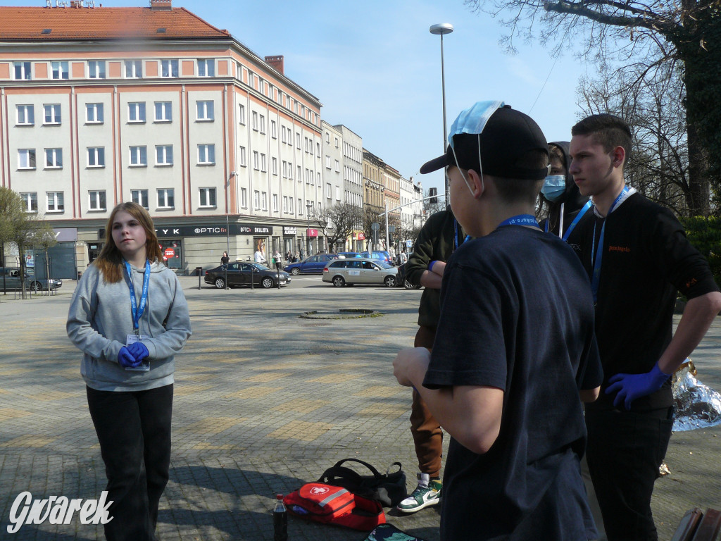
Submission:
POLYGON ((721 424, 721 394, 696 379, 696 367, 692 361, 687 360, 679 366, 671 384, 676 414, 674 432, 721 424))

